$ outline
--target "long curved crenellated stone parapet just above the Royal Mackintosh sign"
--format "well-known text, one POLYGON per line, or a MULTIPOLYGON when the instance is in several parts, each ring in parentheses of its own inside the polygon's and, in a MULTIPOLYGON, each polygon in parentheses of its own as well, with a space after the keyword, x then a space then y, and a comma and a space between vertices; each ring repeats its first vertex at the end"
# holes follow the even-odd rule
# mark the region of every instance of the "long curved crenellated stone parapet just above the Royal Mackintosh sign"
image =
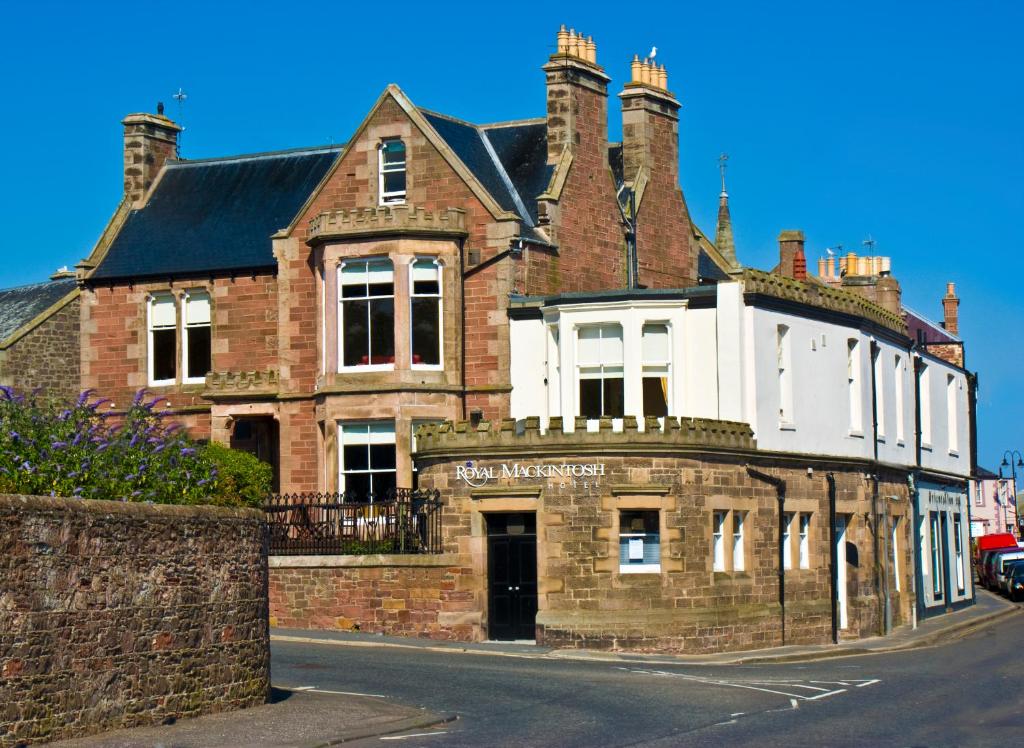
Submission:
POLYGON ((644 419, 644 428, 634 416, 598 419, 598 429, 588 430, 586 418, 574 419, 572 430, 562 418, 549 419, 541 429, 540 418, 516 421, 505 418, 492 423, 469 421, 427 423, 417 430, 417 457, 460 455, 536 454, 543 452, 711 450, 753 452, 757 449, 750 424, 711 418, 644 419), (615 428, 614 421, 622 427, 615 428), (663 424, 664 421, 664 424, 663 424))

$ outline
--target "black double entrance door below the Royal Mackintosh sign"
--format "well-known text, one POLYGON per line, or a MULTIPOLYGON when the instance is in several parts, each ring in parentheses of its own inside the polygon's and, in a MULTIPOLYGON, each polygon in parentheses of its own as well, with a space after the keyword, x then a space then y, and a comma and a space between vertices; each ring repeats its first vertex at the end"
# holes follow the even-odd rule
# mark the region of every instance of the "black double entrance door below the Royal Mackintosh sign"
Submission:
POLYGON ((537 636, 537 515, 486 514, 487 635, 492 639, 537 636))

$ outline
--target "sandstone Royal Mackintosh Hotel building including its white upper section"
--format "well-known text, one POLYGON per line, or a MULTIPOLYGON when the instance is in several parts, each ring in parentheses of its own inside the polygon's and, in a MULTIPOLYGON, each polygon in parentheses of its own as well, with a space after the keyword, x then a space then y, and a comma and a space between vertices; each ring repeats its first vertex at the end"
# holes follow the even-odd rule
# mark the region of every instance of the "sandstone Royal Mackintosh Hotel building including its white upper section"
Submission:
POLYGON ((441 495, 440 553, 272 558, 276 623, 709 651, 912 615, 913 549, 967 509, 929 534, 908 477, 964 487, 967 372, 914 345, 898 284, 809 278, 800 232, 743 268, 724 184, 710 241, 667 71, 623 67, 620 143, 564 29, 544 118, 474 125, 392 85, 342 147, 202 161, 162 114, 124 120, 83 384, 166 396, 286 492, 441 495), (922 391, 945 398, 924 454, 922 391))

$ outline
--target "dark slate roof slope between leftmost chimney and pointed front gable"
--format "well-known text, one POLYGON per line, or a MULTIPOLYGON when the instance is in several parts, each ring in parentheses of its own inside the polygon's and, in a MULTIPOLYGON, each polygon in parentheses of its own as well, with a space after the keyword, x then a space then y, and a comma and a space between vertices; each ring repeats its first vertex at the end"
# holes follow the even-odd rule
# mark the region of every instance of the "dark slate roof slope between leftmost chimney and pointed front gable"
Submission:
POLYGON ((332 146, 168 162, 90 280, 275 266, 270 236, 295 218, 339 153, 332 146))

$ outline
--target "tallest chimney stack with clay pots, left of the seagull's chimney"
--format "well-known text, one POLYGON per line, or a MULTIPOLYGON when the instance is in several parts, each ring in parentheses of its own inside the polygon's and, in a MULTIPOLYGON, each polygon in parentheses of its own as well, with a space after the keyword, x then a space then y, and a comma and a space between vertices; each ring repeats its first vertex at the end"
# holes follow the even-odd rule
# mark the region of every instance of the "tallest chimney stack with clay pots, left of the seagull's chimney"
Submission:
POLYGON ((597 44, 574 29, 558 31, 556 51, 544 66, 548 80, 548 163, 568 148, 605 158, 608 148, 608 76, 597 64, 597 44))

